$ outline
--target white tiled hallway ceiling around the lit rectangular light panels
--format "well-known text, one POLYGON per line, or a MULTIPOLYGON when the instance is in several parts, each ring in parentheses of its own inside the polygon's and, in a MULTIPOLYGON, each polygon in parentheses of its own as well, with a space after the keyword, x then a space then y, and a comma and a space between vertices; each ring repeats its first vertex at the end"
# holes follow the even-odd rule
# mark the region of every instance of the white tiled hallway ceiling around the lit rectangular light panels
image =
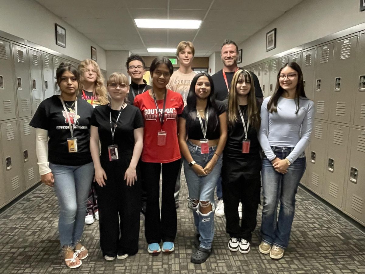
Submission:
POLYGON ((36 0, 105 50, 176 47, 192 41, 195 56, 241 44, 302 0, 36 0), (197 30, 137 28, 134 19, 202 20, 197 30))

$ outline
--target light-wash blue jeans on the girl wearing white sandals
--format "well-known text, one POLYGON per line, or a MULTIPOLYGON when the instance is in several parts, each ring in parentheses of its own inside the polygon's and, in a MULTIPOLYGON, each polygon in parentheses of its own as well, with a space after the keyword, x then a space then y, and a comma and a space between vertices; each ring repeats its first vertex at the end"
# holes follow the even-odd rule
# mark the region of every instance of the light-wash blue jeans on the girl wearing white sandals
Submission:
POLYGON ((58 231, 61 247, 74 247, 84 230, 86 203, 94 176, 94 165, 49 163, 59 204, 58 231))

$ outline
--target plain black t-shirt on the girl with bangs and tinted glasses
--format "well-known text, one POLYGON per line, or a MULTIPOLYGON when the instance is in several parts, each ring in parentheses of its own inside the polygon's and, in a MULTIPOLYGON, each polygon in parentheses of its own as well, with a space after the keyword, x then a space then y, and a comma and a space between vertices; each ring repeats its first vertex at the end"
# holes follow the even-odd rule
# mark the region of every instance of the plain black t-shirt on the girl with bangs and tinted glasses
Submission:
MULTIPOLYGON (((112 133, 110 130, 110 114, 114 127, 119 110, 112 110, 109 104, 95 108, 91 125, 97 127, 101 143, 101 161, 109 161, 108 145, 112 145, 112 133)), ((133 130, 142 128, 143 118, 138 107, 127 105, 120 113, 117 127, 114 133, 114 144, 118 145, 119 159, 121 155, 131 155, 134 149, 133 130)))

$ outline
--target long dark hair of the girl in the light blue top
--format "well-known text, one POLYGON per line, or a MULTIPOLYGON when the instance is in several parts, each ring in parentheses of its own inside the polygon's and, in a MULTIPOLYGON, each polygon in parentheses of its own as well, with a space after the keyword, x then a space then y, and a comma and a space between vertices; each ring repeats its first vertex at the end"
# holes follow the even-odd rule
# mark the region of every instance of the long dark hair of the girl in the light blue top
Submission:
POLYGON ((277 74, 276 80, 276 88, 273 96, 271 96, 269 103, 268 103, 268 110, 270 113, 277 112, 277 101, 283 95, 284 89, 280 86, 279 82, 279 75, 283 68, 289 66, 290 68, 294 69, 298 73, 298 83, 295 90, 295 100, 296 100, 296 111, 295 114, 299 111, 299 97, 307 98, 306 93, 304 92, 304 82, 303 82, 303 72, 301 72, 300 66, 296 62, 286 63, 277 74))

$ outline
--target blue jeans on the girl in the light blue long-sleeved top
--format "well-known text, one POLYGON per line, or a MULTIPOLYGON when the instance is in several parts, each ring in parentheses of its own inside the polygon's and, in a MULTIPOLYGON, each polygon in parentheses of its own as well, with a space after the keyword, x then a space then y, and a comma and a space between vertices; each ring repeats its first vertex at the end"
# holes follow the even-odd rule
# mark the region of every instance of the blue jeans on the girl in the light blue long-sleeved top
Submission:
MULTIPOLYGON (((274 154, 285 159, 292 147, 272 147, 274 154)), ((272 163, 264 157, 262 160, 262 205, 261 239, 268 244, 287 248, 295 211, 295 194, 301 177, 306 170, 304 152, 289 165, 287 174, 275 171, 272 163), (279 216, 277 206, 280 201, 279 216)))

